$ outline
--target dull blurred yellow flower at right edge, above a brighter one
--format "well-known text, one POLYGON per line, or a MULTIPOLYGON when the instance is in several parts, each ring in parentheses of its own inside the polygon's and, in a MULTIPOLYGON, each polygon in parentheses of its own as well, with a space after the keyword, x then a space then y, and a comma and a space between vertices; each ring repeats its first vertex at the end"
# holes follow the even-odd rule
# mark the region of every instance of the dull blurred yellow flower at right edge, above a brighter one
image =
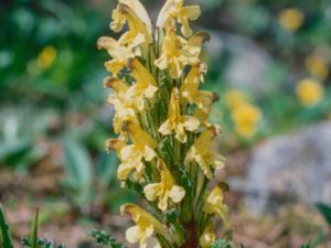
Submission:
POLYGON ((325 79, 329 75, 327 61, 318 54, 312 54, 307 57, 306 67, 313 76, 320 79, 325 79))

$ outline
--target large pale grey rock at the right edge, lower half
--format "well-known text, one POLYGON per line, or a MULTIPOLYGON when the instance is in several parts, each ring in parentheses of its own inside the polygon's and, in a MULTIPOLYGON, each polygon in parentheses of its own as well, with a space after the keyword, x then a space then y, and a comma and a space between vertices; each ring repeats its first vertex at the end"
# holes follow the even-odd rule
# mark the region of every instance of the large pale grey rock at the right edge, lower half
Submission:
POLYGON ((259 144, 245 190, 247 207, 256 214, 284 203, 331 204, 331 122, 259 144))

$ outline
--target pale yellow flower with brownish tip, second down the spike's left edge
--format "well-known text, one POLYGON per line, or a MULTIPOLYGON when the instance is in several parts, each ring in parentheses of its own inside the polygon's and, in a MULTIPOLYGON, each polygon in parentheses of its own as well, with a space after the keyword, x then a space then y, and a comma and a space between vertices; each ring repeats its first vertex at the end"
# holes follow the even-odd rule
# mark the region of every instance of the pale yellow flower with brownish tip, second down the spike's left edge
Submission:
POLYGON ((118 73, 126 66, 129 58, 139 55, 135 53, 135 48, 143 42, 142 35, 137 35, 132 39, 125 33, 118 41, 113 37, 102 36, 97 41, 98 48, 105 48, 113 57, 111 61, 105 63, 106 69, 117 76, 118 73))

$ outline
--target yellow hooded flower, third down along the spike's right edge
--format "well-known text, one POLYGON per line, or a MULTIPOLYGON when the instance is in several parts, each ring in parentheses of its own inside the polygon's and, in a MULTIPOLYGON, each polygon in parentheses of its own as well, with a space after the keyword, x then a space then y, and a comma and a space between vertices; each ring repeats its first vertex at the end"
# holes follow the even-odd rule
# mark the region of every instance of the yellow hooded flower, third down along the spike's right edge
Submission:
POLYGON ((199 90, 200 82, 204 72, 205 66, 203 64, 193 66, 188 76, 184 78, 180 93, 190 105, 195 104, 200 109, 209 112, 214 95, 211 91, 199 90))

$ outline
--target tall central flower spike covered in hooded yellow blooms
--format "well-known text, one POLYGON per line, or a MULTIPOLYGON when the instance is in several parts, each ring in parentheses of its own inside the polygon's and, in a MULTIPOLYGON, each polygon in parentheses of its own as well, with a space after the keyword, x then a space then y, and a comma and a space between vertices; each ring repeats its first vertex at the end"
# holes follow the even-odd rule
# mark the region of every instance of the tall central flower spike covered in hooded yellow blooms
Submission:
POLYGON ((135 226, 126 231, 131 244, 148 247, 211 247, 216 239, 213 216, 226 223, 225 186, 207 190, 224 158, 212 151, 218 126, 207 121, 213 93, 200 90, 206 65, 200 60, 205 32, 193 33, 190 21, 197 6, 168 0, 156 26, 138 0, 119 0, 110 29, 118 40, 103 36, 99 48, 111 60, 105 66, 115 106, 117 139, 106 141, 120 164, 124 187, 141 194, 149 207, 121 206, 135 226))

